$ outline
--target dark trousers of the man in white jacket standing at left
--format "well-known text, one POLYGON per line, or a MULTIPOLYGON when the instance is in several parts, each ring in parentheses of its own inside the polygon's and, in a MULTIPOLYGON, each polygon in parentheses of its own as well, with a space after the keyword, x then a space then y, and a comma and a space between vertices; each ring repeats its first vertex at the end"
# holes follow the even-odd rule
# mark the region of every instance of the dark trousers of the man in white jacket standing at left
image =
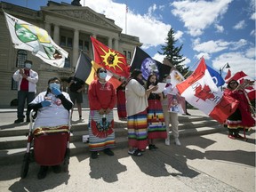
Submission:
POLYGON ((25 101, 27 101, 27 112, 26 116, 29 116, 30 111, 28 111, 28 104, 35 99, 35 92, 28 92, 28 91, 19 91, 18 92, 18 111, 17 111, 17 117, 18 119, 24 118, 24 107, 25 107, 25 101))

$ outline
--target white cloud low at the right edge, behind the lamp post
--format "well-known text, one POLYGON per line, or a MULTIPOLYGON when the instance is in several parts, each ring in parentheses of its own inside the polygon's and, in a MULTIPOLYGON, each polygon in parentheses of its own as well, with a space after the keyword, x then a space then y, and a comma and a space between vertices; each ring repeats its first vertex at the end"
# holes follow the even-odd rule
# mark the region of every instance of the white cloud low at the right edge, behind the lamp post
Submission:
MULTIPOLYGON (((244 71, 248 76, 255 78, 255 58, 246 57, 244 52, 227 52, 212 60, 212 66, 219 70, 227 62, 232 75, 244 71)), ((227 72, 227 70, 224 69, 224 72, 227 72)))

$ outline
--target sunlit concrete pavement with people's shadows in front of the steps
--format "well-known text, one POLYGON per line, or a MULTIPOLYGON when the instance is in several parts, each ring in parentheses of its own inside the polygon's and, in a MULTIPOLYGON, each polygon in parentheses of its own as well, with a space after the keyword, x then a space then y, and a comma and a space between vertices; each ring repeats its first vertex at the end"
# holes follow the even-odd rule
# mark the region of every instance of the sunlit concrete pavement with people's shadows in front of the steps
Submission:
MULTIPOLYGON (((83 113, 86 114, 86 109, 83 113)), ((16 117, 15 108, 0 109, 3 124, 16 117)), ((188 110, 193 116, 203 115, 188 110)), ((115 112, 116 113, 116 112, 115 112)), ((78 119, 74 111, 74 120, 78 119)), ((12 121, 11 121, 12 120, 12 121)), ((25 123, 24 123, 25 124, 25 123)), ((129 156, 127 148, 115 156, 100 153, 70 158, 69 172, 51 170, 37 180, 38 165, 31 163, 28 177, 20 180, 20 164, 0 167, 1 191, 255 191, 255 127, 247 141, 230 140, 226 132, 180 138, 181 147, 157 143, 156 151, 129 156)))

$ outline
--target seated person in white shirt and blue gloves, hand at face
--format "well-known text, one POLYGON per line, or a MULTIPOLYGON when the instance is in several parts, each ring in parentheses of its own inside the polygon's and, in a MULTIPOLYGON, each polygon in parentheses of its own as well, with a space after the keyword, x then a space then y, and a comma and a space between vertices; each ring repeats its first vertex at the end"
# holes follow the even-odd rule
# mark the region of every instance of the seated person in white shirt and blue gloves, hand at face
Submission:
POLYGON ((39 180, 45 178, 49 166, 52 166, 53 172, 61 172, 60 164, 67 148, 65 141, 68 136, 60 139, 64 142, 61 144, 58 135, 64 135, 64 132, 68 135, 68 116, 73 103, 67 92, 60 91, 60 84, 58 77, 49 79, 47 91, 39 93, 28 105, 36 111, 33 135, 36 163, 41 165, 37 174, 39 180), (42 139, 36 140, 39 137, 42 139))

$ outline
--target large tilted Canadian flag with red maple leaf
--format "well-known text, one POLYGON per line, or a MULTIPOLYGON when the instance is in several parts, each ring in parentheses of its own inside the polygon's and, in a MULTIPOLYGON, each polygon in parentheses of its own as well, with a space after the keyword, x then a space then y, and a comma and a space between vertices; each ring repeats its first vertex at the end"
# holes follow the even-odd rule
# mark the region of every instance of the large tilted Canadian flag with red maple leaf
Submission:
POLYGON ((220 124, 223 124, 228 116, 235 112, 239 103, 238 100, 224 96, 214 84, 204 63, 204 58, 200 60, 192 75, 177 84, 176 87, 188 103, 211 116, 220 124))

